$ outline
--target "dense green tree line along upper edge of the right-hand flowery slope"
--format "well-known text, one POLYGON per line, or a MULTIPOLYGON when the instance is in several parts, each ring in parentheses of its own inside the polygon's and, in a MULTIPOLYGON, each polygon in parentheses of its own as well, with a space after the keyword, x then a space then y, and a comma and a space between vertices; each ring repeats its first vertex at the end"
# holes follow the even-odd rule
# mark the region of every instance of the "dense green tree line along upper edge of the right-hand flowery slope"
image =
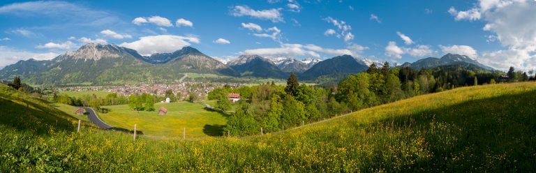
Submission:
POLYGON ((382 66, 372 64, 365 72, 349 75, 331 87, 299 84, 296 75, 291 74, 286 87, 273 83, 237 89, 223 87, 211 91, 208 98, 217 100, 218 110, 230 110, 232 105, 237 107, 228 116, 224 130, 231 135, 244 136, 258 134, 260 128, 265 132, 283 130, 425 93, 527 80, 534 80, 534 77, 514 68, 508 73, 461 65, 417 70, 393 68, 386 62, 382 66), (230 103, 227 94, 231 92, 241 94, 238 103, 230 103))

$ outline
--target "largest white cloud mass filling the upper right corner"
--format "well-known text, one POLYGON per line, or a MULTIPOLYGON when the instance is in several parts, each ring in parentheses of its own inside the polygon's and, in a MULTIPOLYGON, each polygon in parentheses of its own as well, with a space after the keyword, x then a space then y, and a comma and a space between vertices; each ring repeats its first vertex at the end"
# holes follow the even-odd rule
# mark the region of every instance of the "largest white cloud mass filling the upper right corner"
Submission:
POLYGON ((527 69, 536 65, 536 6, 532 0, 480 0, 466 11, 454 7, 455 20, 482 20, 482 30, 493 33, 487 41, 498 40, 506 50, 484 52, 481 63, 493 68, 509 66, 527 69), (463 12, 463 13, 462 13, 463 12))

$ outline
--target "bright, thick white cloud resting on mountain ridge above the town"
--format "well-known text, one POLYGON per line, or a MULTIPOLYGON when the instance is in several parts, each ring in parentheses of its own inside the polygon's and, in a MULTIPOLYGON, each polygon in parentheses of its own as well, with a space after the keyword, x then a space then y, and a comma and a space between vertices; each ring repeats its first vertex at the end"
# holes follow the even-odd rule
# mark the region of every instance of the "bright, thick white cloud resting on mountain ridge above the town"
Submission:
POLYGON ((200 40, 196 37, 174 35, 144 36, 131 43, 121 43, 121 46, 137 50, 140 54, 155 54, 174 52, 191 43, 200 43, 200 40))

